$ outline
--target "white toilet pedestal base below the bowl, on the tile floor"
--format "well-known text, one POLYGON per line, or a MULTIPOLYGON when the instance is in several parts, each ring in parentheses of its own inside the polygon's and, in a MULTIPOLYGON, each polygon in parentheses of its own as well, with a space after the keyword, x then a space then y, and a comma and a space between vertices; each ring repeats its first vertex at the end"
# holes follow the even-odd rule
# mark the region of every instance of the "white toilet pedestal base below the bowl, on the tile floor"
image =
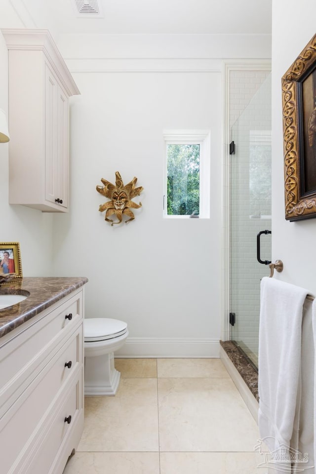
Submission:
POLYGON ((114 367, 114 353, 84 358, 84 395, 115 395, 120 372, 114 367))

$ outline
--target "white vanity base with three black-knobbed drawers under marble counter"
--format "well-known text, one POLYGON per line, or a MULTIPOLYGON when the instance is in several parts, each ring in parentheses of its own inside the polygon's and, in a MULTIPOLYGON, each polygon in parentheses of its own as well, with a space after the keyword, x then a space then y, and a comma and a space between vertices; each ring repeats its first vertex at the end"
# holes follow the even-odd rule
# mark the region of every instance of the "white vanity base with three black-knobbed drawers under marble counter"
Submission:
POLYGON ((1 474, 62 474, 83 431, 83 287, 0 338, 1 474))

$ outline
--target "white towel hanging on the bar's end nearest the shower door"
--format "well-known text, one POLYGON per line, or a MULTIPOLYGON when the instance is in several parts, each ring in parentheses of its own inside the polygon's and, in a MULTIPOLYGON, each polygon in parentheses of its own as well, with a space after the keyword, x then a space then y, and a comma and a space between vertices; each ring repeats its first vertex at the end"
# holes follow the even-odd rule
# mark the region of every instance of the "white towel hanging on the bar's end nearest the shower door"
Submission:
POLYGON ((302 316, 307 294, 308 290, 275 278, 261 280, 258 424, 270 452, 290 447, 300 394, 302 316))

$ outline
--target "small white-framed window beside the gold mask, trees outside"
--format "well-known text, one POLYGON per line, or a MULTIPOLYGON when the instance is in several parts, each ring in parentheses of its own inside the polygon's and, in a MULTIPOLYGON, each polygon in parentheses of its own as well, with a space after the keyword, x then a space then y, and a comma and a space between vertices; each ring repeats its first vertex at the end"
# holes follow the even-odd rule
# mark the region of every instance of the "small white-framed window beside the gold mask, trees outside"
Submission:
POLYGON ((209 132, 170 130, 164 139, 164 217, 209 217, 209 132))

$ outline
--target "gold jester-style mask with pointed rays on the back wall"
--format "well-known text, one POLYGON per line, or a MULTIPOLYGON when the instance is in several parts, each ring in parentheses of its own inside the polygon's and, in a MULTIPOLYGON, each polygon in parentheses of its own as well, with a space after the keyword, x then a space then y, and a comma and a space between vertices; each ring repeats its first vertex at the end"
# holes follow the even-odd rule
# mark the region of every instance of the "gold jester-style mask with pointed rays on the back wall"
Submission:
POLYGON ((123 215, 129 218, 125 220, 125 223, 135 219, 134 213, 130 208, 138 209, 139 207, 142 207, 142 203, 140 202, 139 204, 136 204, 136 202, 132 201, 132 198, 139 196, 144 189, 142 186, 135 188, 137 182, 137 178, 135 177, 124 186, 118 171, 116 171, 115 176, 115 185, 110 183, 110 181, 101 178, 101 182, 104 186, 96 187, 98 193, 110 199, 110 201, 100 204, 99 211, 106 211, 105 220, 111 222, 111 226, 123 222, 123 215), (116 216, 118 221, 114 222, 113 219, 110 219, 111 216, 116 216))

